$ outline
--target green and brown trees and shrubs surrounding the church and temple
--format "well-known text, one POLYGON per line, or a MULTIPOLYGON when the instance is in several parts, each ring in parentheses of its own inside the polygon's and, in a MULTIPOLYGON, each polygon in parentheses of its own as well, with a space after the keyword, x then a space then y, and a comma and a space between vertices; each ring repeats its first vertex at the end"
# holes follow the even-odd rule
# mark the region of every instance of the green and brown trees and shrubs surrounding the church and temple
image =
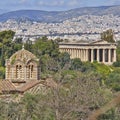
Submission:
MULTIPOLYGON (((0 33, 0 77, 4 78, 5 59, 22 48, 22 40, 12 41, 14 32, 0 33)), ((46 94, 25 94, 18 102, 0 100, 0 120, 87 120, 89 115, 107 104, 120 91, 120 47, 118 61, 113 66, 97 62, 70 59, 68 53, 60 53, 58 41, 39 38, 25 49, 40 59, 41 79, 51 77, 57 87, 46 94)), ((113 106, 99 120, 119 120, 120 106, 113 106)))

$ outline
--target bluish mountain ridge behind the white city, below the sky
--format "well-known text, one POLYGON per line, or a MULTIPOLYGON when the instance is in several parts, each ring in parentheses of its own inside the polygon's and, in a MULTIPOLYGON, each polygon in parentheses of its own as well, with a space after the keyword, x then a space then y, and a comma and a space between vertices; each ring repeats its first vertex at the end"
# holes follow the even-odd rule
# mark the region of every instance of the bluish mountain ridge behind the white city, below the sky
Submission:
POLYGON ((40 22, 61 22, 69 18, 81 15, 107 15, 113 14, 120 16, 120 6, 101 6, 101 7, 84 7, 68 11, 41 11, 41 10, 18 10, 0 15, 0 22, 8 19, 30 20, 40 22))

